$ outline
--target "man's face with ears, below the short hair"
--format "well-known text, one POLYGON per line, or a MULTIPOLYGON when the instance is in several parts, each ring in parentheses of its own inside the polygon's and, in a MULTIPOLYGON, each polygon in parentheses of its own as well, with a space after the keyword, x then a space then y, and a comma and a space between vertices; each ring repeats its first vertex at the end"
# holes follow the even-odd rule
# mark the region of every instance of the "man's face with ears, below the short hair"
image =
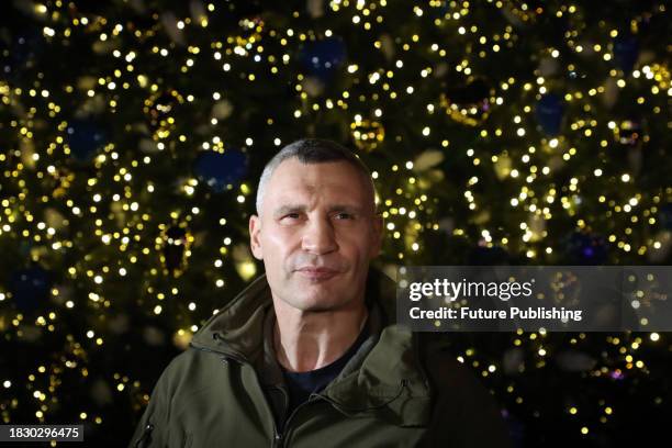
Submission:
POLYGON ((363 176, 345 161, 281 163, 249 220, 254 256, 273 298, 302 311, 336 310, 363 298, 382 219, 363 176))

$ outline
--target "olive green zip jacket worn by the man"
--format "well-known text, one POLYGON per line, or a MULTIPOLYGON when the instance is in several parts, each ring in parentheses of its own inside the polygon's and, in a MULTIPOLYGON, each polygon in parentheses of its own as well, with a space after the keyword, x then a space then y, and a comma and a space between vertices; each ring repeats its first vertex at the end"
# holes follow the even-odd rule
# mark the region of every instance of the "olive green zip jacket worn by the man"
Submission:
POLYGON ((130 447, 508 447, 492 397, 440 338, 394 324, 394 288, 371 270, 369 338, 285 415, 270 289, 255 280, 166 368, 130 447))

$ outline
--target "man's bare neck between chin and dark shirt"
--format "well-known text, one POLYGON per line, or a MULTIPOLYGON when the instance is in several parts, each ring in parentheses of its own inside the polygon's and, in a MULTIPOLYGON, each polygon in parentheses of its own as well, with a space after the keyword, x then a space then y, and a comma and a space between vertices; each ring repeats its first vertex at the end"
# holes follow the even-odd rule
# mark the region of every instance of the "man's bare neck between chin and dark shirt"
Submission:
POLYGON ((280 365, 292 372, 306 372, 328 366, 355 343, 368 310, 357 306, 325 312, 303 312, 278 301, 273 347, 280 365))

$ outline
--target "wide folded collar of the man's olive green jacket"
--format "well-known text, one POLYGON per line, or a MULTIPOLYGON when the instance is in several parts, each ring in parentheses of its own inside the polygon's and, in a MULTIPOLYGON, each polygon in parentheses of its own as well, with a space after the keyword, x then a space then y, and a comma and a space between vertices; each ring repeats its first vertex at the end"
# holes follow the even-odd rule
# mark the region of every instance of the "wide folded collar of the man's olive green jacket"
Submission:
MULTIPOLYGON (((344 414, 387 407, 401 426, 429 417, 430 388, 417 338, 394 324, 394 282, 371 269, 367 280, 369 338, 339 376, 322 392, 344 414)), ((193 336, 191 346, 251 365, 262 384, 282 384, 272 345, 275 311, 266 276, 253 281, 193 336)))

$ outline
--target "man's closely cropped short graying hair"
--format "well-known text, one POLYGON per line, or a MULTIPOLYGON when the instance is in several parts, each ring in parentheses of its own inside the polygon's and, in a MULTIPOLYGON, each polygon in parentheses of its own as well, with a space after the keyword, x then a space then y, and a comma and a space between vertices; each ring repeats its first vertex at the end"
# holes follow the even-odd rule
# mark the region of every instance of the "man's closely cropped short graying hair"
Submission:
POLYGON ((371 179, 369 168, 348 148, 324 138, 302 138, 280 149, 264 167, 257 188, 257 214, 261 215, 261 205, 266 186, 276 168, 284 160, 295 158, 304 165, 325 164, 329 161, 346 161, 355 167, 371 186, 371 198, 373 198, 373 210, 376 210, 376 186, 371 179))

